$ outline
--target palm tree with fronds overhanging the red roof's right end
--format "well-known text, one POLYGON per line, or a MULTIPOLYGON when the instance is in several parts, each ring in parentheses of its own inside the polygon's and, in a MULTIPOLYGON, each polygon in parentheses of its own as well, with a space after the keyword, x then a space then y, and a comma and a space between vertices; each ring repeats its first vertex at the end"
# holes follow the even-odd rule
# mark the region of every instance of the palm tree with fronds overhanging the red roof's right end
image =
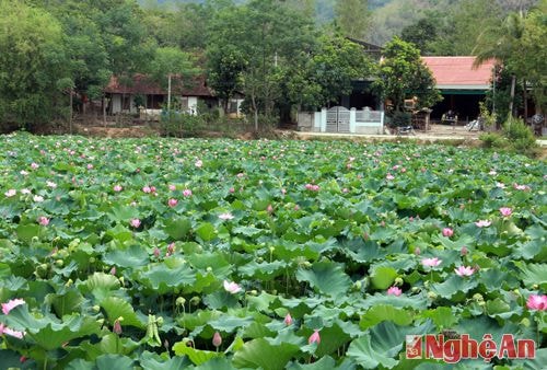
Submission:
MULTIPOLYGON (((520 49, 525 28, 524 20, 522 12, 510 13, 500 27, 485 30, 477 38, 477 44, 473 49, 473 54, 476 55, 474 67, 477 68, 490 59, 496 59, 498 63, 508 63, 520 49)), ((516 74, 513 72, 511 76, 511 99, 509 101, 510 115, 513 115, 515 84, 516 74)))

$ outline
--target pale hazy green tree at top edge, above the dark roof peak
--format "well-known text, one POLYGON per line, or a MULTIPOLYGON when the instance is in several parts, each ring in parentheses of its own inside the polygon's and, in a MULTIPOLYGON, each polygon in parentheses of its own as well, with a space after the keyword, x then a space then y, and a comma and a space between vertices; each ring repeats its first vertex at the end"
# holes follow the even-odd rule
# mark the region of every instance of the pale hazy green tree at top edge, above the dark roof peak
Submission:
POLYGON ((365 39, 371 16, 368 5, 366 0, 338 0, 336 2, 336 23, 345 36, 365 39))

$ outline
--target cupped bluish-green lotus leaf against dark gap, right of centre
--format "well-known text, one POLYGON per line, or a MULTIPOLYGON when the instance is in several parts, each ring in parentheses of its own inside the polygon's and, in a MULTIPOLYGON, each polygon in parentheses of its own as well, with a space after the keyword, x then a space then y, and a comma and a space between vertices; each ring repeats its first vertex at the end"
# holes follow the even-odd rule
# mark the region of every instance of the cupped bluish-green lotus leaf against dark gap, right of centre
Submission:
POLYGON ((351 286, 341 266, 331 262, 315 263, 309 270, 299 268, 295 276, 299 281, 307 281, 312 288, 334 299, 344 297, 351 286))

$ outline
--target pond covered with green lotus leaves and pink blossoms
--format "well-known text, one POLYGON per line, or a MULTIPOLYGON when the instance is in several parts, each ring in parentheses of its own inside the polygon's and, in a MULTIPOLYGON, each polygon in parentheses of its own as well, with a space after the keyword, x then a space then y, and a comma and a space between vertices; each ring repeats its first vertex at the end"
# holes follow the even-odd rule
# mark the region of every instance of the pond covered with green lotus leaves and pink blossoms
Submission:
POLYGON ((2 369, 547 363, 545 162, 24 134, 0 149, 2 369), (407 335, 440 333, 513 334, 535 359, 406 358, 407 335))

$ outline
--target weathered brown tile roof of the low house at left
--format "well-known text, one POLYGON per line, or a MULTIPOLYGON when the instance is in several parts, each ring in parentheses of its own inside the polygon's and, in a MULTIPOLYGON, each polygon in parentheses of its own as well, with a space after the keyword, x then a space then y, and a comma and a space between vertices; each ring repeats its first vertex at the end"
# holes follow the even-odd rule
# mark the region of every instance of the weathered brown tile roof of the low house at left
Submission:
MULTIPOLYGON (((167 95, 166 89, 163 89, 158 82, 152 81, 144 74, 133 76, 132 83, 123 83, 117 77, 113 76, 104 92, 110 94, 167 95)), ((173 79, 172 93, 182 96, 214 96, 202 76, 185 82, 173 79)))

